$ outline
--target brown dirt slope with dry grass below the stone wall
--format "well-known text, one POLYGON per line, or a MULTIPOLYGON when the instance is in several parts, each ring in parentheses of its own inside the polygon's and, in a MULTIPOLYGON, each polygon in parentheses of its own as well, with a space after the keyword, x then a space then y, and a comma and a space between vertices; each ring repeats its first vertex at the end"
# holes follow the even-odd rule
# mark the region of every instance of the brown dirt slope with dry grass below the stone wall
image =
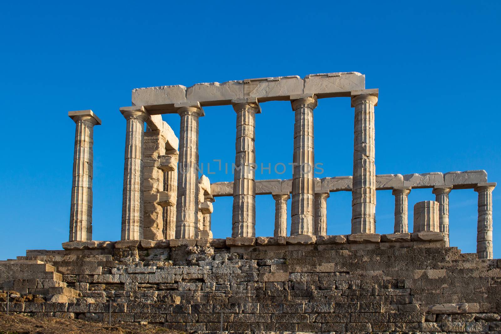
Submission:
POLYGON ((37 318, 22 314, 0 314, 0 334, 180 334, 163 327, 116 322, 88 322, 78 319, 37 318))

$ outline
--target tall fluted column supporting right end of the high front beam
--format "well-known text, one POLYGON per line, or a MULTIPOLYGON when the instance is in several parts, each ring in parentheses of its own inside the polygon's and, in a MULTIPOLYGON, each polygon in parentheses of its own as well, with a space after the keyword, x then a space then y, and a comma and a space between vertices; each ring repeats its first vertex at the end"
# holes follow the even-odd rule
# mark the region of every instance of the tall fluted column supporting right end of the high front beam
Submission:
POLYGON ((374 106, 377 100, 377 90, 354 91, 351 96, 351 105, 355 107, 352 233, 376 232, 374 106))

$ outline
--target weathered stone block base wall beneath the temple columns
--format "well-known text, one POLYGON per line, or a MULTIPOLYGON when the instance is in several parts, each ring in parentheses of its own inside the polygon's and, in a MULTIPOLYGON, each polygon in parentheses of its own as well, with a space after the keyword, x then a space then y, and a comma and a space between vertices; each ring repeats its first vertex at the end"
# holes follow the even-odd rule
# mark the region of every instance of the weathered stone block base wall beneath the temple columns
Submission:
POLYGON ((73 242, 1 263, 1 287, 24 294, 12 311, 107 321, 111 299, 114 321, 188 332, 218 331, 221 313, 236 332, 501 331, 501 261, 444 245, 437 232, 73 242), (50 291, 8 279, 16 265, 30 286, 52 270, 77 294, 30 297, 50 291))

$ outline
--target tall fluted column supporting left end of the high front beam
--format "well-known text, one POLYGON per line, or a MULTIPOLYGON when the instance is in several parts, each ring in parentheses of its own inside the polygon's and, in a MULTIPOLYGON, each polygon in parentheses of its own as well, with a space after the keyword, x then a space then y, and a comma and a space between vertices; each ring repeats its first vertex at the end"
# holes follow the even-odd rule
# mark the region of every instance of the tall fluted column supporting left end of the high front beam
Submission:
POLYGON ((122 240, 143 238, 143 140, 148 114, 142 106, 120 108, 127 120, 125 135, 122 240))

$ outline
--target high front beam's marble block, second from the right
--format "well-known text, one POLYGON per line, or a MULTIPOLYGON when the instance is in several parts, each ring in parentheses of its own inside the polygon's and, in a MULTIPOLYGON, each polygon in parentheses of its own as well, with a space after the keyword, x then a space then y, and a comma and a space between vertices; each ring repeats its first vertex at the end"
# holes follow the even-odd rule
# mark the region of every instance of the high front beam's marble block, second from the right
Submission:
POLYGON ((303 94, 304 81, 298 76, 245 79, 243 97, 259 98, 260 101, 284 99, 290 95, 303 94))

